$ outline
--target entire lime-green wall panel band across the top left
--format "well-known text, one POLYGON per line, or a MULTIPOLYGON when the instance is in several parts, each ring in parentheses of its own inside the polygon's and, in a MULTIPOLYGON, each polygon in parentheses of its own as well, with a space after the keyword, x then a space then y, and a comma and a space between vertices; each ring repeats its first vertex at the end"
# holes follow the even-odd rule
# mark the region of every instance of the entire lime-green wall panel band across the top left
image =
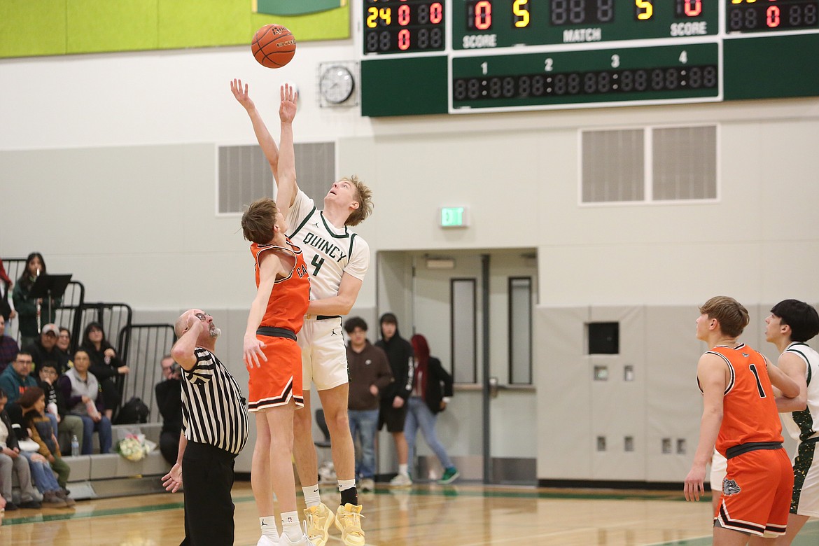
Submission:
POLYGON ((252 10, 251 0, 0 0, 0 57, 250 47, 269 23, 296 42, 350 38, 349 5, 301 16, 252 10))

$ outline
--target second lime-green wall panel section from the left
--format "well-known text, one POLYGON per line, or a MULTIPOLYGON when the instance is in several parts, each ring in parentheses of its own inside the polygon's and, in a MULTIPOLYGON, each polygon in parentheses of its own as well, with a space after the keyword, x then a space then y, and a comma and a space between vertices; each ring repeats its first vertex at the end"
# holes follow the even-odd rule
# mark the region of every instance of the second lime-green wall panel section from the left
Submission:
POLYGON ((156 49, 157 0, 70 0, 68 52, 156 49))

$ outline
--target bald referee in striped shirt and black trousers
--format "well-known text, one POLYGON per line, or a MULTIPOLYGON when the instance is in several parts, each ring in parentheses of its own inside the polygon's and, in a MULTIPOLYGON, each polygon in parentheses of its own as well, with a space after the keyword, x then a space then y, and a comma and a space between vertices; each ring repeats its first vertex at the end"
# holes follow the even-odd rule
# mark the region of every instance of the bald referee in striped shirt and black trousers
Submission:
POLYGON ((201 309, 176 321, 171 356, 183 368, 182 434, 165 490, 185 483, 185 539, 181 546, 233 544, 233 462, 247 441, 245 399, 213 354, 221 330, 201 309))

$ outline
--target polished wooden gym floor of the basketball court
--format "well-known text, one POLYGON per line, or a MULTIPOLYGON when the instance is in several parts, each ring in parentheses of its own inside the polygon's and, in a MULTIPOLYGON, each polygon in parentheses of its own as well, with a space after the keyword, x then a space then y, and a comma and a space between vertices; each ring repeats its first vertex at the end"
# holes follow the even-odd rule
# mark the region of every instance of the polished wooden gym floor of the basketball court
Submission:
MULTIPOLYGON (((322 499, 335 507, 338 494, 323 489, 322 499)), ((249 482, 234 485, 233 500, 235 544, 253 546, 259 521, 249 482)), ((686 503, 682 491, 378 485, 360 500, 373 546, 711 544, 710 500, 686 503)), ((337 530, 330 533, 328 546, 341 546, 337 530)), ((20 510, 0 520, 3 546, 176 546, 182 539, 181 493, 79 501, 73 510, 20 510)), ((819 544, 819 521, 809 521, 794 544, 819 544)))

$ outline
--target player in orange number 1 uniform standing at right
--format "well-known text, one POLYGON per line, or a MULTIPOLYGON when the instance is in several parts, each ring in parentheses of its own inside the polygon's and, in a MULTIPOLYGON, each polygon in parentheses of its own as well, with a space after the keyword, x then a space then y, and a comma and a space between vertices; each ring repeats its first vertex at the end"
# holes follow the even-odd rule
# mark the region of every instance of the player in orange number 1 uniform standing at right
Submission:
MULTIPOLYGON (((717 296, 699 308, 697 339, 708 343, 697 364, 703 418, 694 465, 686 476, 686 500, 704 494, 705 467, 714 446, 728 459, 722 502, 714 517, 713 544, 749 544, 785 534, 794 474, 782 448, 782 426, 771 384, 794 398, 799 386, 764 355, 737 338, 748 311, 717 296)), ((764 543, 759 543, 764 544, 764 543)))

